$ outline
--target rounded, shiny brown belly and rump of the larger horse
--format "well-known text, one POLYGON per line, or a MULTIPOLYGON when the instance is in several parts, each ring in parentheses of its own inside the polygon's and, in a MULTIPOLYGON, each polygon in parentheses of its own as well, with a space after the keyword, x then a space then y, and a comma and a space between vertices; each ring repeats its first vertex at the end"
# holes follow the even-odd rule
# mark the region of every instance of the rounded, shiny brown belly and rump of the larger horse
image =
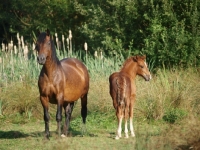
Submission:
POLYGON ((89 74, 86 66, 76 58, 62 59, 61 65, 65 75, 65 100, 74 101, 84 96, 89 90, 89 74))

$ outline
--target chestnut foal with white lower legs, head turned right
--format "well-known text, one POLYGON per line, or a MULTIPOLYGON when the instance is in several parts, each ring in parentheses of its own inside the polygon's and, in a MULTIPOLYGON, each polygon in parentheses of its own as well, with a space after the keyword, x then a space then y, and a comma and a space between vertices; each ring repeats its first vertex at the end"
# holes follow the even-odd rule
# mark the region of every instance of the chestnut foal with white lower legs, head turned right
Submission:
POLYGON ((146 56, 132 56, 128 58, 119 72, 114 72, 109 77, 110 96, 116 110, 118 119, 117 135, 115 139, 121 138, 122 119, 125 120, 125 137, 128 138, 127 120, 130 118, 130 132, 134 137, 133 129, 133 107, 136 97, 135 78, 142 76, 146 81, 151 79, 151 74, 145 62, 146 56))

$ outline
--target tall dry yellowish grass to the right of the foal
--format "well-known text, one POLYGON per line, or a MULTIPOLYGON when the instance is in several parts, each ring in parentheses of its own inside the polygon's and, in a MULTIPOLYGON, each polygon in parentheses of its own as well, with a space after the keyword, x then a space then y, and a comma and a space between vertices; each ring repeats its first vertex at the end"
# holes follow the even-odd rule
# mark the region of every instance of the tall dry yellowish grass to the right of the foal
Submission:
POLYGON ((162 119, 174 123, 200 109, 199 71, 192 69, 158 70, 153 80, 138 84, 138 109, 149 119, 162 119), (148 90, 147 90, 147 89, 148 90), (144 90, 140 90, 144 89, 144 90), (147 94, 142 94, 144 91, 147 94))

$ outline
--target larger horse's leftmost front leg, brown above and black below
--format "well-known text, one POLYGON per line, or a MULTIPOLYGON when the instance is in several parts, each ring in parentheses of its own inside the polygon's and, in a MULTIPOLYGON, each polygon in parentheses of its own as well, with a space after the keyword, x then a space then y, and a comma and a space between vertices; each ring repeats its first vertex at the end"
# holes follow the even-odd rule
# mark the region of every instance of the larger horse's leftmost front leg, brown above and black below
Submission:
POLYGON ((43 106, 43 111, 44 111, 44 122, 45 122, 45 137, 47 139, 49 139, 49 136, 50 136, 50 132, 49 132, 49 99, 48 97, 43 97, 43 96, 40 96, 40 101, 42 103, 42 106, 43 106))

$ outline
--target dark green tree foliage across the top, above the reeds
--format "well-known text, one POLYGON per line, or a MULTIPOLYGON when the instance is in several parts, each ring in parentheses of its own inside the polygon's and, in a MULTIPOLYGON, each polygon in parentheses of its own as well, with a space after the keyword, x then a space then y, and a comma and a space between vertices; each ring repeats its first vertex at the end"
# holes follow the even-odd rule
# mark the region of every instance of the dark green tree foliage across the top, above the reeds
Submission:
POLYGON ((67 37, 71 29, 74 49, 87 42, 90 54, 146 54, 154 68, 200 64, 198 0, 7 0, 0 8, 2 41, 20 32, 32 42, 46 28, 67 37))

